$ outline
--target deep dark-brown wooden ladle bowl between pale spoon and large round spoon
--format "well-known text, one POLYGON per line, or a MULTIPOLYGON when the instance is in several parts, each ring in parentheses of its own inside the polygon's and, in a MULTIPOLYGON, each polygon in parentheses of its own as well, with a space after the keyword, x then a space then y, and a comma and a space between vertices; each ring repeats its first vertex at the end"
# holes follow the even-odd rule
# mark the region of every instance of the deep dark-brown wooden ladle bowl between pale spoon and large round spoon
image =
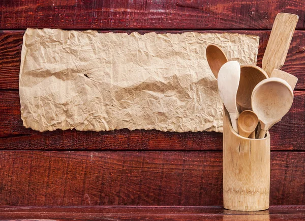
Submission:
POLYGON ((251 96, 255 86, 263 79, 268 78, 266 72, 256 65, 241 65, 240 80, 236 102, 240 109, 251 109, 251 96))

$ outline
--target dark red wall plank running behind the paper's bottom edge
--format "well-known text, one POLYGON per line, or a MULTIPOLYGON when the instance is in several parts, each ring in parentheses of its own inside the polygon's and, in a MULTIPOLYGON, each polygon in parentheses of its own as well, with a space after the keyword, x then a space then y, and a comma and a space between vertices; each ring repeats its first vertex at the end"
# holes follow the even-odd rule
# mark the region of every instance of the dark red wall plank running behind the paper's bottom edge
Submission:
MULTIPOLYGON (((271 150, 305 150, 305 91, 294 92, 289 113, 270 130, 271 150)), ((222 133, 128 129, 39 132, 22 126, 18 91, 0 94, 2 150, 222 150, 222 133)))

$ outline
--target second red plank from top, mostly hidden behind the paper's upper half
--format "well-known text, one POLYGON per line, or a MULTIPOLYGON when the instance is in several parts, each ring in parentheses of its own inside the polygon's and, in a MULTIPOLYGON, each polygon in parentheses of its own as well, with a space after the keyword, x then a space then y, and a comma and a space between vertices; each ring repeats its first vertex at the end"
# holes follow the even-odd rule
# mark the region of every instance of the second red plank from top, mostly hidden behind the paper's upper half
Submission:
MULTIPOLYGON (((102 32, 102 31, 101 31, 102 32)), ((115 31, 118 32, 118 31, 115 31)), ((132 31, 120 31, 131 33, 132 31)), ((149 31, 138 31, 142 34, 149 31)), ((181 33, 181 31, 159 31, 158 33, 181 33)), ((200 31, 220 32, 220 31, 200 31)), ((257 35, 260 37, 258 65, 261 66, 263 53, 266 49, 269 31, 226 31, 239 34, 257 35)), ((22 36, 24 31, 0 32, 0 89, 15 89, 19 87, 19 70, 21 59, 22 36)), ((288 51, 286 62, 282 70, 299 78, 296 89, 305 89, 305 31, 296 31, 288 51)))

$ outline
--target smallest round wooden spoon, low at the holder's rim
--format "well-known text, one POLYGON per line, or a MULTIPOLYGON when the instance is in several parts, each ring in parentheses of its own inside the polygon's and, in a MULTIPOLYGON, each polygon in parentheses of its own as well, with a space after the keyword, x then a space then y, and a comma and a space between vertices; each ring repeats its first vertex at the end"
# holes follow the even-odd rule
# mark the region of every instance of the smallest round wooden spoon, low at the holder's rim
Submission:
POLYGON ((255 131, 257 124, 257 115, 251 110, 245 110, 239 115, 239 118, 237 120, 239 135, 243 137, 249 137, 250 134, 255 131))

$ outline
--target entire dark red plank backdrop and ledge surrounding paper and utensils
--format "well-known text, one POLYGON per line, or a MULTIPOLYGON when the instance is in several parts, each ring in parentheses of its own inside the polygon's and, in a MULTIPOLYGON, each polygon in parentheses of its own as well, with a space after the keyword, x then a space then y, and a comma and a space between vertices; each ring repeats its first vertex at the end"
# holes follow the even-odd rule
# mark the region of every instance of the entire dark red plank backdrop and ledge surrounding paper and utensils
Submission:
POLYGON ((303 0, 3 0, 0 9, 0 219, 305 219, 303 0), (290 112, 270 130, 267 211, 222 209, 221 133, 41 133, 22 126, 18 84, 26 27, 253 34, 260 36, 261 66, 279 12, 299 16, 282 68, 299 80, 290 112))

